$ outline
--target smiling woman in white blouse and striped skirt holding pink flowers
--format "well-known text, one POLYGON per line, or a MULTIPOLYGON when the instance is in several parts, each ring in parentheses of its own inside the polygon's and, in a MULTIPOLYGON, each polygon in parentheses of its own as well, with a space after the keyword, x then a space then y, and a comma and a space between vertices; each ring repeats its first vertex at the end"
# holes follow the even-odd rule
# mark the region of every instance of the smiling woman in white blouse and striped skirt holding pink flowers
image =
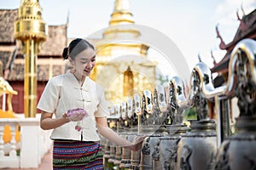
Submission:
POLYGON ((96 65, 93 45, 74 39, 63 49, 62 56, 70 61, 73 70, 51 78, 38 102, 41 128, 54 129, 54 169, 102 169, 97 131, 115 144, 139 150, 143 138, 131 144, 108 127, 103 88, 89 77, 96 65))

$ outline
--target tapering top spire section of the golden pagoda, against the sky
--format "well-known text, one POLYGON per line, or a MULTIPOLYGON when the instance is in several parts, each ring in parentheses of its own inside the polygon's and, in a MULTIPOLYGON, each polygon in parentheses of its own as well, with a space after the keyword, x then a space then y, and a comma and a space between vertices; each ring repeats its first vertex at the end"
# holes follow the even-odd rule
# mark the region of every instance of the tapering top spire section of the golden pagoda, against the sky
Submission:
POLYGON ((134 24, 133 14, 130 11, 130 0, 115 0, 109 26, 121 24, 134 24))

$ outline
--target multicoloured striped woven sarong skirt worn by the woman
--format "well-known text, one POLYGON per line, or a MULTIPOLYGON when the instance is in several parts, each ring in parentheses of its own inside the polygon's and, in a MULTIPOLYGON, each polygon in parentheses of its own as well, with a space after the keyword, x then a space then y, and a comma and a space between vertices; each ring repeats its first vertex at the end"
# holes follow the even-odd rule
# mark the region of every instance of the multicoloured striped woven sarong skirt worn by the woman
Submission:
POLYGON ((103 169, 100 142, 55 140, 53 169, 103 169))

